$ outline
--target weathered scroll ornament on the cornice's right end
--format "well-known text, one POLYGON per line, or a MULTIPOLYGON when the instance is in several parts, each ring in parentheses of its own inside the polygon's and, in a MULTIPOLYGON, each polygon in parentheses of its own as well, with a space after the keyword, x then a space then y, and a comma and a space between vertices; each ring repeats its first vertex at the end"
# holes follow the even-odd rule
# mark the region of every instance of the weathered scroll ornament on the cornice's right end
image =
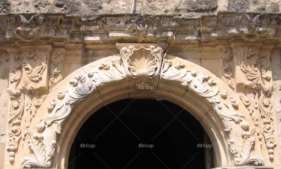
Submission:
POLYGON ((246 40, 254 40, 256 37, 268 31, 270 23, 269 14, 259 14, 251 18, 248 14, 239 13, 236 15, 236 23, 239 32, 246 40), (255 35, 251 37, 251 35, 255 35))

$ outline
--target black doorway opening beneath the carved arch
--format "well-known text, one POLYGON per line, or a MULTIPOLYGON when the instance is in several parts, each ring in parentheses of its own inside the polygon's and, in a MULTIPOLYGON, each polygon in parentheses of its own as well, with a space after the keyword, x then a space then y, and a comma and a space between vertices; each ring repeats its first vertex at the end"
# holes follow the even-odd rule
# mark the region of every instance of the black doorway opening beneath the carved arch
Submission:
POLYGON ((189 112, 169 101, 119 100, 85 121, 68 168, 213 168, 204 132, 189 112))

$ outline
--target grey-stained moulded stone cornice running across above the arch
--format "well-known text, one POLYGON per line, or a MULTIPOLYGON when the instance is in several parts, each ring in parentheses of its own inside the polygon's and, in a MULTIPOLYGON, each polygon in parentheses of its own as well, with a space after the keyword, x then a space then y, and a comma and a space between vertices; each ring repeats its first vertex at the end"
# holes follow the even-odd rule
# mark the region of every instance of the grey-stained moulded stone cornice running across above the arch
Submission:
POLYGON ((219 12, 200 18, 177 15, 114 14, 94 20, 64 13, 2 14, 0 42, 85 41, 138 43, 205 43, 229 41, 274 42, 280 40, 276 13, 219 12), (31 19, 30 19, 31 18, 31 19), (184 21, 183 21, 184 20, 184 21))

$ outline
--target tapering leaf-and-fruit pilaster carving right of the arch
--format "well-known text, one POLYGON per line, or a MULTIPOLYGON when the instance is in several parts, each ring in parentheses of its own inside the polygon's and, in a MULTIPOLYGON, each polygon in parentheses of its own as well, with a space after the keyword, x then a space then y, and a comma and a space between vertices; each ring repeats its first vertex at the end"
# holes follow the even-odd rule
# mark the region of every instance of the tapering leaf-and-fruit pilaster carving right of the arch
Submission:
MULTIPOLYGON (((240 51, 241 70, 246 74, 247 82, 244 83, 246 97, 240 95, 240 99, 248 108, 256 127, 260 127, 260 119, 263 119, 262 135, 265 145, 268 148, 269 158, 273 159, 274 142, 274 116, 272 109, 270 56, 269 54, 259 54, 255 47, 245 47, 240 51)), ((259 130, 258 130, 259 131, 259 130)), ((258 132, 258 135, 260 132, 258 132)), ((262 137, 259 136, 261 141, 262 137)))

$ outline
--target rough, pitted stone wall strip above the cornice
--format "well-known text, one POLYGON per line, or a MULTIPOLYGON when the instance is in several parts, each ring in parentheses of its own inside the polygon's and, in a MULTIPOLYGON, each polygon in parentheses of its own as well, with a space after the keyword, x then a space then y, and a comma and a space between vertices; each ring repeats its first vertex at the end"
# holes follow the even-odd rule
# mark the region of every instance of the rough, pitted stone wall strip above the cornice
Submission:
MULTIPOLYGON (((65 12, 95 18, 103 13, 130 13, 133 0, 2 0, 0 13, 65 12)), ((218 11, 279 12, 279 0, 136 0, 136 13, 200 16, 218 11)))

